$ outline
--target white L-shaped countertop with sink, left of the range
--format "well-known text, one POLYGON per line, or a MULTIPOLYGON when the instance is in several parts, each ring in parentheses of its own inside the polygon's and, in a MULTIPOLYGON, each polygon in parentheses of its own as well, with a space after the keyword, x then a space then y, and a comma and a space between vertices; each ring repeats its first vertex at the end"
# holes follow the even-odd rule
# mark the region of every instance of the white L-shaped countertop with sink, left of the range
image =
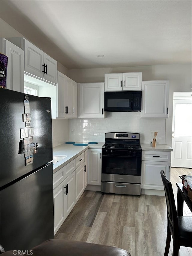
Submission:
MULTIPOLYGON (((88 142, 79 142, 88 144, 88 142)), ((98 144, 88 144, 88 146, 73 146, 73 144, 63 143, 53 148, 53 155, 62 156, 67 155, 64 159, 60 160, 58 163, 53 164, 53 173, 61 169, 63 166, 68 164, 70 161, 75 159, 79 154, 83 153, 86 149, 101 149, 104 145, 104 142, 98 142, 98 144)))

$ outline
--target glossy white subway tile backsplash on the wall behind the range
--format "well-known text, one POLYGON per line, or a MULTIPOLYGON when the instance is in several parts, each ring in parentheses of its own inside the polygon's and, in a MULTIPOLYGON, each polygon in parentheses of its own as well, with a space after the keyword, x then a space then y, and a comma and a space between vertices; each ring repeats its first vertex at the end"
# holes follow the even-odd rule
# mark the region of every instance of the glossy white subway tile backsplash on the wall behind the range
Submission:
POLYGON ((165 143, 165 119, 143 119, 140 112, 106 112, 105 119, 69 119, 69 140, 105 141, 106 132, 137 132, 140 143, 150 143, 150 131, 158 131, 157 141, 165 143))

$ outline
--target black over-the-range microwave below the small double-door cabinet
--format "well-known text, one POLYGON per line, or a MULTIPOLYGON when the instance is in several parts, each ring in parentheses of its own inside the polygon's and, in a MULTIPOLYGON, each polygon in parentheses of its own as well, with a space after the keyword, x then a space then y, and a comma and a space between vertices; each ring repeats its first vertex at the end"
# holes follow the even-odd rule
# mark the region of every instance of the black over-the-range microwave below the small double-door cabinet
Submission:
POLYGON ((104 111, 141 111, 141 91, 104 92, 104 111))

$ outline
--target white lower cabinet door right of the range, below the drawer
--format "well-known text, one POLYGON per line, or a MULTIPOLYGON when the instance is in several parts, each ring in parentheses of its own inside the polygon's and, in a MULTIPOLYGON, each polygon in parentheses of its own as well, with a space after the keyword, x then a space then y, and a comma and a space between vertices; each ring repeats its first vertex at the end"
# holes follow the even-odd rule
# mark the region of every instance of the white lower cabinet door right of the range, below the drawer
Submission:
POLYGON ((170 168, 170 162, 142 161, 141 188, 164 190, 160 172, 170 180, 170 168))

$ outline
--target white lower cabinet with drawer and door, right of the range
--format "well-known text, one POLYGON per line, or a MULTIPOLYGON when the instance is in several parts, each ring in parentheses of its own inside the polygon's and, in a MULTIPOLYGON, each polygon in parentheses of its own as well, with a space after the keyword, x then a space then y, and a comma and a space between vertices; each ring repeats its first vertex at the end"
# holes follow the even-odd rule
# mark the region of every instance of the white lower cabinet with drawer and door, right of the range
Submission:
POLYGON ((165 176, 170 180, 171 152, 143 151, 141 170, 142 194, 164 194, 161 170, 164 170, 165 176))

